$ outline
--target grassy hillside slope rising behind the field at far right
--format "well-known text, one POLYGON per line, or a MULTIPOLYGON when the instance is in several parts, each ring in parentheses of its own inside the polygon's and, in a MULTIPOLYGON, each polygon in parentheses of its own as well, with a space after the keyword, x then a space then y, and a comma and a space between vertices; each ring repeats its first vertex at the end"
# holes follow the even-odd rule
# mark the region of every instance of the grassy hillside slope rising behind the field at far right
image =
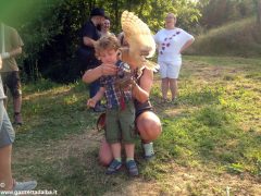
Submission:
POLYGON ((260 26, 256 17, 243 19, 196 37, 187 51, 194 54, 260 57, 260 26))

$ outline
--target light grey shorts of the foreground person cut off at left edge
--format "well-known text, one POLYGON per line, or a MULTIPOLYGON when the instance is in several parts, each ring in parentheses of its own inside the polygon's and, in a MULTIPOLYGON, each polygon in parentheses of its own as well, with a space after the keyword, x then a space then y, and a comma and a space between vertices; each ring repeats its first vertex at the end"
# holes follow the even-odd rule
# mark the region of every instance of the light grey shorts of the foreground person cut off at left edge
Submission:
POLYGON ((11 145, 14 138, 13 126, 3 106, 3 100, 0 99, 0 148, 11 145))

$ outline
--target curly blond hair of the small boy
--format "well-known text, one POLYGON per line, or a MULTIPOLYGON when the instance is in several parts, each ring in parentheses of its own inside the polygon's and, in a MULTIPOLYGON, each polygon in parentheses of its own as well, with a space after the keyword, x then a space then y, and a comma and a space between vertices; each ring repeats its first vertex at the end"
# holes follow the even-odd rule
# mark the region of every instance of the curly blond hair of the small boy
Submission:
POLYGON ((116 51, 119 48, 120 48, 120 44, 117 38, 114 35, 103 36, 95 44, 95 51, 97 57, 100 56, 101 51, 104 51, 104 50, 116 51))

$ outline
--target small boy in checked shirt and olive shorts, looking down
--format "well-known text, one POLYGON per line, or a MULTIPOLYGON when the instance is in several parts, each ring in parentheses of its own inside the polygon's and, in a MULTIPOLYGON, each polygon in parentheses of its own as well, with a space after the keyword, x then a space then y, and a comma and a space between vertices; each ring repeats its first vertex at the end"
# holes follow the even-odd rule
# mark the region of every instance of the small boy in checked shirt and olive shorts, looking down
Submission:
MULTIPOLYGON (((119 70, 128 65, 119 60, 120 44, 113 35, 100 38, 96 45, 96 54, 105 64, 115 64, 119 70)), ((126 154, 126 168, 129 175, 138 175, 138 168, 134 160, 135 151, 135 108, 132 96, 132 85, 119 87, 119 74, 101 76, 101 87, 95 97, 88 99, 87 105, 95 107, 103 95, 107 99, 105 138, 110 144, 113 161, 110 163, 107 174, 115 173, 122 167, 122 144, 126 154)), ((135 84, 135 83, 134 83, 135 84)))

